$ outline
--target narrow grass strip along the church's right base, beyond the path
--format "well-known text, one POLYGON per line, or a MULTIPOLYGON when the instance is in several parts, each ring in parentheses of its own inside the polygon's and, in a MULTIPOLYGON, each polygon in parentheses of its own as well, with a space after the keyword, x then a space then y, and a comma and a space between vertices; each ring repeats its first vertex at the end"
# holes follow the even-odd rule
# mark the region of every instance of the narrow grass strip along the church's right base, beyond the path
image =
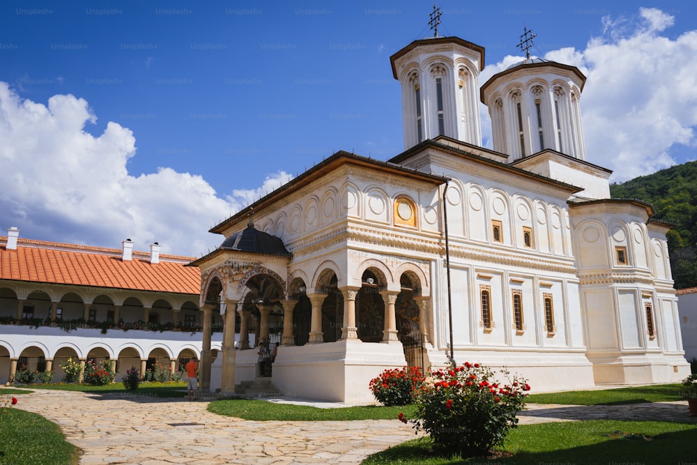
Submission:
POLYGON ((530 404, 570 404, 570 405, 617 405, 638 404, 642 402, 673 402, 682 400, 680 384, 661 384, 657 386, 638 386, 603 390, 578 390, 532 394, 530 404))

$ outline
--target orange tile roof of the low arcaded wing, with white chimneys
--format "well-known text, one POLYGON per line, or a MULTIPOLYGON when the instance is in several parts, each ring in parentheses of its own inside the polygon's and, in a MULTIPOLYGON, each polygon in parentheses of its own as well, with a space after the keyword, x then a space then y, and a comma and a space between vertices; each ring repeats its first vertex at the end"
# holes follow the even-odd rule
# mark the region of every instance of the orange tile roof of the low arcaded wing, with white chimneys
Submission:
POLYGON ((89 245, 34 241, 20 238, 17 250, 6 250, 0 236, 0 280, 75 284, 141 291, 199 294, 201 272, 184 266, 192 257, 160 254, 151 264, 147 252, 132 252, 121 260, 121 250, 89 245))

